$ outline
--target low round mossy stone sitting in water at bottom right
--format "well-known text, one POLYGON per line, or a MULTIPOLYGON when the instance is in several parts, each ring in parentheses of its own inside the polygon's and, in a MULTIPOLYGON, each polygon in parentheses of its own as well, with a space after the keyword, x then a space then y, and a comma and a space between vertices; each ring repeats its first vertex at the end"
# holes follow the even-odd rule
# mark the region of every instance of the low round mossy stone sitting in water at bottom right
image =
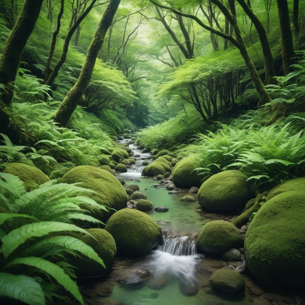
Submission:
POLYGON ((242 275, 233 269, 221 268, 213 272, 210 284, 228 292, 238 292, 245 288, 245 280, 242 275))

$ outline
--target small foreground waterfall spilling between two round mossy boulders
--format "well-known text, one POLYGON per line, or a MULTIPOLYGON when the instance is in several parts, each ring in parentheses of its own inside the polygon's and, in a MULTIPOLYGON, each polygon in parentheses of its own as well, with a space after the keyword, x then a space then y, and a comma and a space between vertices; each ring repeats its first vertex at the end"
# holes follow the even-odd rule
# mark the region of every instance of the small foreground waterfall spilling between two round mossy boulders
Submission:
POLYGON ((194 255, 196 251, 195 240, 188 236, 163 237, 162 251, 171 255, 194 255))

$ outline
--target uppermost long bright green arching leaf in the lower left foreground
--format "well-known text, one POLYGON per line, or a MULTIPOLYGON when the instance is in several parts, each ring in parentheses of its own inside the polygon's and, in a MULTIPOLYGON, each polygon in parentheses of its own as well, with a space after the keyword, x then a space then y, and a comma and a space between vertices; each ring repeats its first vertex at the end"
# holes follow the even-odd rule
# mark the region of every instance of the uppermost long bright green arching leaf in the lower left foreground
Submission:
MULTIPOLYGON (((20 228, 10 231, 2 238, 1 252, 7 258, 18 246, 32 237, 41 237, 51 232, 78 231, 89 234, 86 230, 75 226, 55 221, 41 221, 33 224, 25 224, 20 228)), ((90 235, 90 234, 89 234, 90 235)))

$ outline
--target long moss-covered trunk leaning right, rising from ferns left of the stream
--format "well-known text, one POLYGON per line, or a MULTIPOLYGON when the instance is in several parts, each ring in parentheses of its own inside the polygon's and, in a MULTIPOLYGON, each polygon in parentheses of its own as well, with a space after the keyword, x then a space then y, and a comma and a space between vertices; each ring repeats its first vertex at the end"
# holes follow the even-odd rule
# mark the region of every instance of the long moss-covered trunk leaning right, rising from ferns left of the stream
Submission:
POLYGON ((84 91, 91 80, 93 68, 95 65, 96 58, 99 50, 101 49, 105 34, 112 23, 113 17, 120 4, 120 0, 110 0, 107 8, 102 16, 102 19, 95 31, 94 37, 91 41, 90 47, 87 52, 84 66, 81 70, 81 74, 76 84, 66 95, 63 102, 59 105, 56 113, 54 113, 54 121, 59 123, 61 126, 66 126, 73 114, 77 103, 81 99, 84 91))

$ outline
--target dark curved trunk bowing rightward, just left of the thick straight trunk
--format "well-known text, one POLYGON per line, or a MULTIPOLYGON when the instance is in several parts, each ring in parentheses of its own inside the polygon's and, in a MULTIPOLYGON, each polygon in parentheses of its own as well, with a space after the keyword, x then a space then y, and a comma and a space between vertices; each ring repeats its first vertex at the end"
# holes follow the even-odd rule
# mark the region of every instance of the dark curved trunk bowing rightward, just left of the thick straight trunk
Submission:
POLYGON ((264 63, 265 63, 264 84, 270 84, 274 81, 273 77, 275 76, 275 71, 274 71, 273 55, 271 52, 265 27, 263 23, 261 23, 261 21, 258 19, 258 17, 253 13, 253 10, 245 2, 245 0, 237 0, 237 2, 242 6, 245 13, 249 16, 249 18, 251 19, 257 30, 258 36, 260 38, 260 44, 262 45, 263 54, 264 54, 264 63))

